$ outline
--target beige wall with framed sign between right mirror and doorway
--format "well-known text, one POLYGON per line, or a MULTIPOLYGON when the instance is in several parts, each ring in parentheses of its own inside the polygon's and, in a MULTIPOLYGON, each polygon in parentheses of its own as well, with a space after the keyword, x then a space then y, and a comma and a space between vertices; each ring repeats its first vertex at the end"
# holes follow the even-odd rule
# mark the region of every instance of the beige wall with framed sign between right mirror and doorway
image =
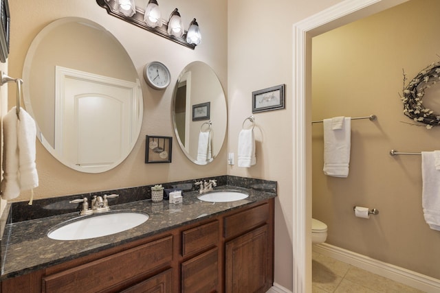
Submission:
POLYGON ((256 113, 256 165, 228 174, 278 181, 275 282, 292 290, 292 65, 293 24, 340 1, 228 1, 228 152, 237 154, 252 91, 286 84, 285 110, 256 113))

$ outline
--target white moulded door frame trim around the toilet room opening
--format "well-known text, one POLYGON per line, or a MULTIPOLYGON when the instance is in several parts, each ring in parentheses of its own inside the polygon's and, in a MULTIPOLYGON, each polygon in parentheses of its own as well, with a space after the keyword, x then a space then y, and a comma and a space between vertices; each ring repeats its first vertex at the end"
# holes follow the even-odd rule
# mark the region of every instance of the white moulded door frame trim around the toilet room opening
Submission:
POLYGON ((346 0, 294 24, 293 292, 311 292, 311 38, 408 0, 346 0))

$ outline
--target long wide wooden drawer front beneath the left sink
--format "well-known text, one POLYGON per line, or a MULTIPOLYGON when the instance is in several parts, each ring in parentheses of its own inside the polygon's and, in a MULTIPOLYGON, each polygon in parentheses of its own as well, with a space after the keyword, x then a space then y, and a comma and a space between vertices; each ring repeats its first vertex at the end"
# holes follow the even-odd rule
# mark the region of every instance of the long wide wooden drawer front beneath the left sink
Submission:
POLYGON ((43 278, 43 292, 98 292, 173 259, 173 236, 116 253, 43 278))

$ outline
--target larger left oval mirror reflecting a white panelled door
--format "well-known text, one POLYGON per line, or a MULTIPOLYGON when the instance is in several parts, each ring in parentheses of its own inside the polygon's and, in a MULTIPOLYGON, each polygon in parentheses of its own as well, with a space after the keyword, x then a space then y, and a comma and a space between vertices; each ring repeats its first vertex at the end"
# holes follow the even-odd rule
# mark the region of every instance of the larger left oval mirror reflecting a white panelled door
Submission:
POLYGON ((119 165, 142 126, 142 89, 131 58, 115 36, 87 19, 58 19, 34 38, 23 99, 41 143, 80 172, 119 165))

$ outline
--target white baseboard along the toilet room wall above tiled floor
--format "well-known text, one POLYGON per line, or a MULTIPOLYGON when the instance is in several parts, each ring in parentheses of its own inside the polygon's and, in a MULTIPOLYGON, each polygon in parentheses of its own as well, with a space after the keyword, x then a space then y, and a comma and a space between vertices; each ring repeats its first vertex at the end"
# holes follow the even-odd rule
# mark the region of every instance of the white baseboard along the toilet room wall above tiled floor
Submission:
POLYGON ((408 285, 412 288, 422 290, 424 292, 440 292, 439 279, 434 279, 424 274, 407 270, 406 268, 400 268, 390 263, 384 263, 382 261, 372 259, 371 257, 353 253, 352 251, 327 243, 315 244, 313 246, 313 250, 316 251, 316 253, 333 257, 334 259, 338 259, 344 263, 349 263, 358 268, 373 272, 374 274, 380 274, 383 277, 408 285))

